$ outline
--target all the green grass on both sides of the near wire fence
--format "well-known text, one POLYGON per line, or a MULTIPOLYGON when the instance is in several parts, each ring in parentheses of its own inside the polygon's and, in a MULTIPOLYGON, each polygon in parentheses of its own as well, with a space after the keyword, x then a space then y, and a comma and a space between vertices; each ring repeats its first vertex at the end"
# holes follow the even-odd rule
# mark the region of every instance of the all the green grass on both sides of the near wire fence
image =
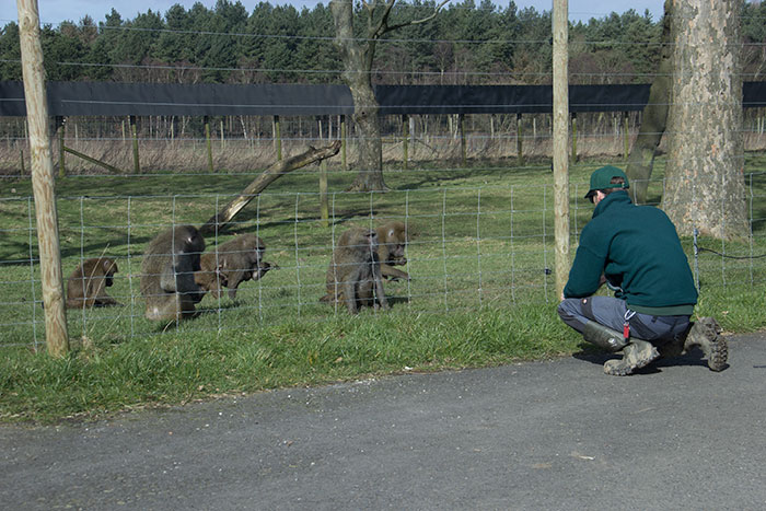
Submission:
MULTIPOLYGON (((588 175, 605 162, 571 169, 574 234, 590 219, 581 200, 588 175)), ((618 163, 617 163, 618 164, 618 163)), ((745 172, 766 167, 748 156, 745 172)), ((664 162, 655 167, 661 178, 664 162)), ((204 223, 253 175, 177 174, 67 177, 57 183, 62 266, 102 253, 120 271, 111 294, 125 304, 69 311, 72 351, 46 355, 39 304, 33 204, 28 182, 3 186, 0 199, 0 421, 93 418, 142 406, 185 403, 219 394, 314 385, 407 371, 437 371, 570 355, 588 349, 556 315, 553 176, 547 162, 523 169, 480 162, 469 169, 423 165, 391 170, 386 194, 341 193, 353 173, 330 173, 330 225, 318 219, 315 169, 277 181, 236 218, 230 232, 256 232, 266 259, 279 265, 240 287, 236 301, 206 297, 202 313, 181 325, 143 318, 138 292, 141 254, 163 227, 204 223), (14 191, 10 191, 14 188, 14 191), (8 191, 7 191, 8 190, 8 191), (31 212, 32 211, 32 212, 31 212), (374 218, 374 220, 371 220, 374 218), (350 224, 406 220, 410 282, 387 282, 392 309, 345 310, 320 303, 333 240, 350 224), (31 225, 32 222, 32 225, 31 225)), ((753 190, 752 244, 701 239, 727 255, 766 253, 766 182, 753 190)), ((657 201, 661 183, 652 183, 657 201)), ((690 240, 683 240, 692 256, 690 240)), ((693 260, 690 259, 693 263, 693 260)), ((730 332, 766 326, 766 260, 698 259, 700 315, 730 332)))

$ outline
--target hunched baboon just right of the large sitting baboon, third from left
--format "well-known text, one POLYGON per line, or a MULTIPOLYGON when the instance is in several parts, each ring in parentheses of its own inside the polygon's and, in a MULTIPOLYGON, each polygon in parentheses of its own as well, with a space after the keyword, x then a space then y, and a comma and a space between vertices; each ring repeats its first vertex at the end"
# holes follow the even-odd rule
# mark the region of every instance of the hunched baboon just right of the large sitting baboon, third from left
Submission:
POLYGON ((200 271, 194 279, 201 292, 210 291, 213 298, 221 295, 221 288, 229 288, 229 298, 236 298, 236 288, 246 280, 258 280, 276 266, 264 260, 266 245, 255 234, 241 234, 202 255, 200 271))

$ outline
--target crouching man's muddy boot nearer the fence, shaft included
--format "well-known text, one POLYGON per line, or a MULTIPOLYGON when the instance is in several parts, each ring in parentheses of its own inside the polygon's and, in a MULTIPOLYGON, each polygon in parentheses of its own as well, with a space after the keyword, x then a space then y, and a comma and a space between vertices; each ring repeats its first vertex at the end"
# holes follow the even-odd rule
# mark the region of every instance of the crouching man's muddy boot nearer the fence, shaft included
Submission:
POLYGON ((623 350, 622 360, 607 360, 604 363, 604 372, 613 376, 632 374, 635 370, 648 365, 660 357, 657 348, 651 342, 635 337, 630 337, 626 341, 619 332, 594 321, 585 323, 585 326, 582 328, 582 338, 610 352, 623 350))

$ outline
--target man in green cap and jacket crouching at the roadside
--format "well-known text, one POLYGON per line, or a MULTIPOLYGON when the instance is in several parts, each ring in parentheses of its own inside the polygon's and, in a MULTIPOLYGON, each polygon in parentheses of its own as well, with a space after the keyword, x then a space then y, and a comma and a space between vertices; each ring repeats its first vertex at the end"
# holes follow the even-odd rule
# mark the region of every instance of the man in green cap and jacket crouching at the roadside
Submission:
POLYGON ((673 222, 659 208, 635 206, 627 189, 615 166, 591 175, 585 198, 595 209, 580 234, 559 316, 587 341, 622 351, 604 364, 606 374, 628 375, 694 346, 711 370, 722 370, 728 347, 716 321, 689 322, 697 290, 673 222), (593 295, 603 283, 615 298, 593 295))

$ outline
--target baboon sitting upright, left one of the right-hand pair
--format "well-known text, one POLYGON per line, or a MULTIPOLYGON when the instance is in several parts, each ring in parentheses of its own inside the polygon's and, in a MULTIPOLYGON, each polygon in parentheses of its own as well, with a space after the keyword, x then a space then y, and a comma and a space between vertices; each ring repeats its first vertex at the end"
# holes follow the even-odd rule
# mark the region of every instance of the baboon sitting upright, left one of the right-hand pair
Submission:
POLYGON ((327 294, 320 300, 345 302, 351 314, 362 305, 388 309, 375 231, 353 228, 340 235, 327 269, 327 294))

